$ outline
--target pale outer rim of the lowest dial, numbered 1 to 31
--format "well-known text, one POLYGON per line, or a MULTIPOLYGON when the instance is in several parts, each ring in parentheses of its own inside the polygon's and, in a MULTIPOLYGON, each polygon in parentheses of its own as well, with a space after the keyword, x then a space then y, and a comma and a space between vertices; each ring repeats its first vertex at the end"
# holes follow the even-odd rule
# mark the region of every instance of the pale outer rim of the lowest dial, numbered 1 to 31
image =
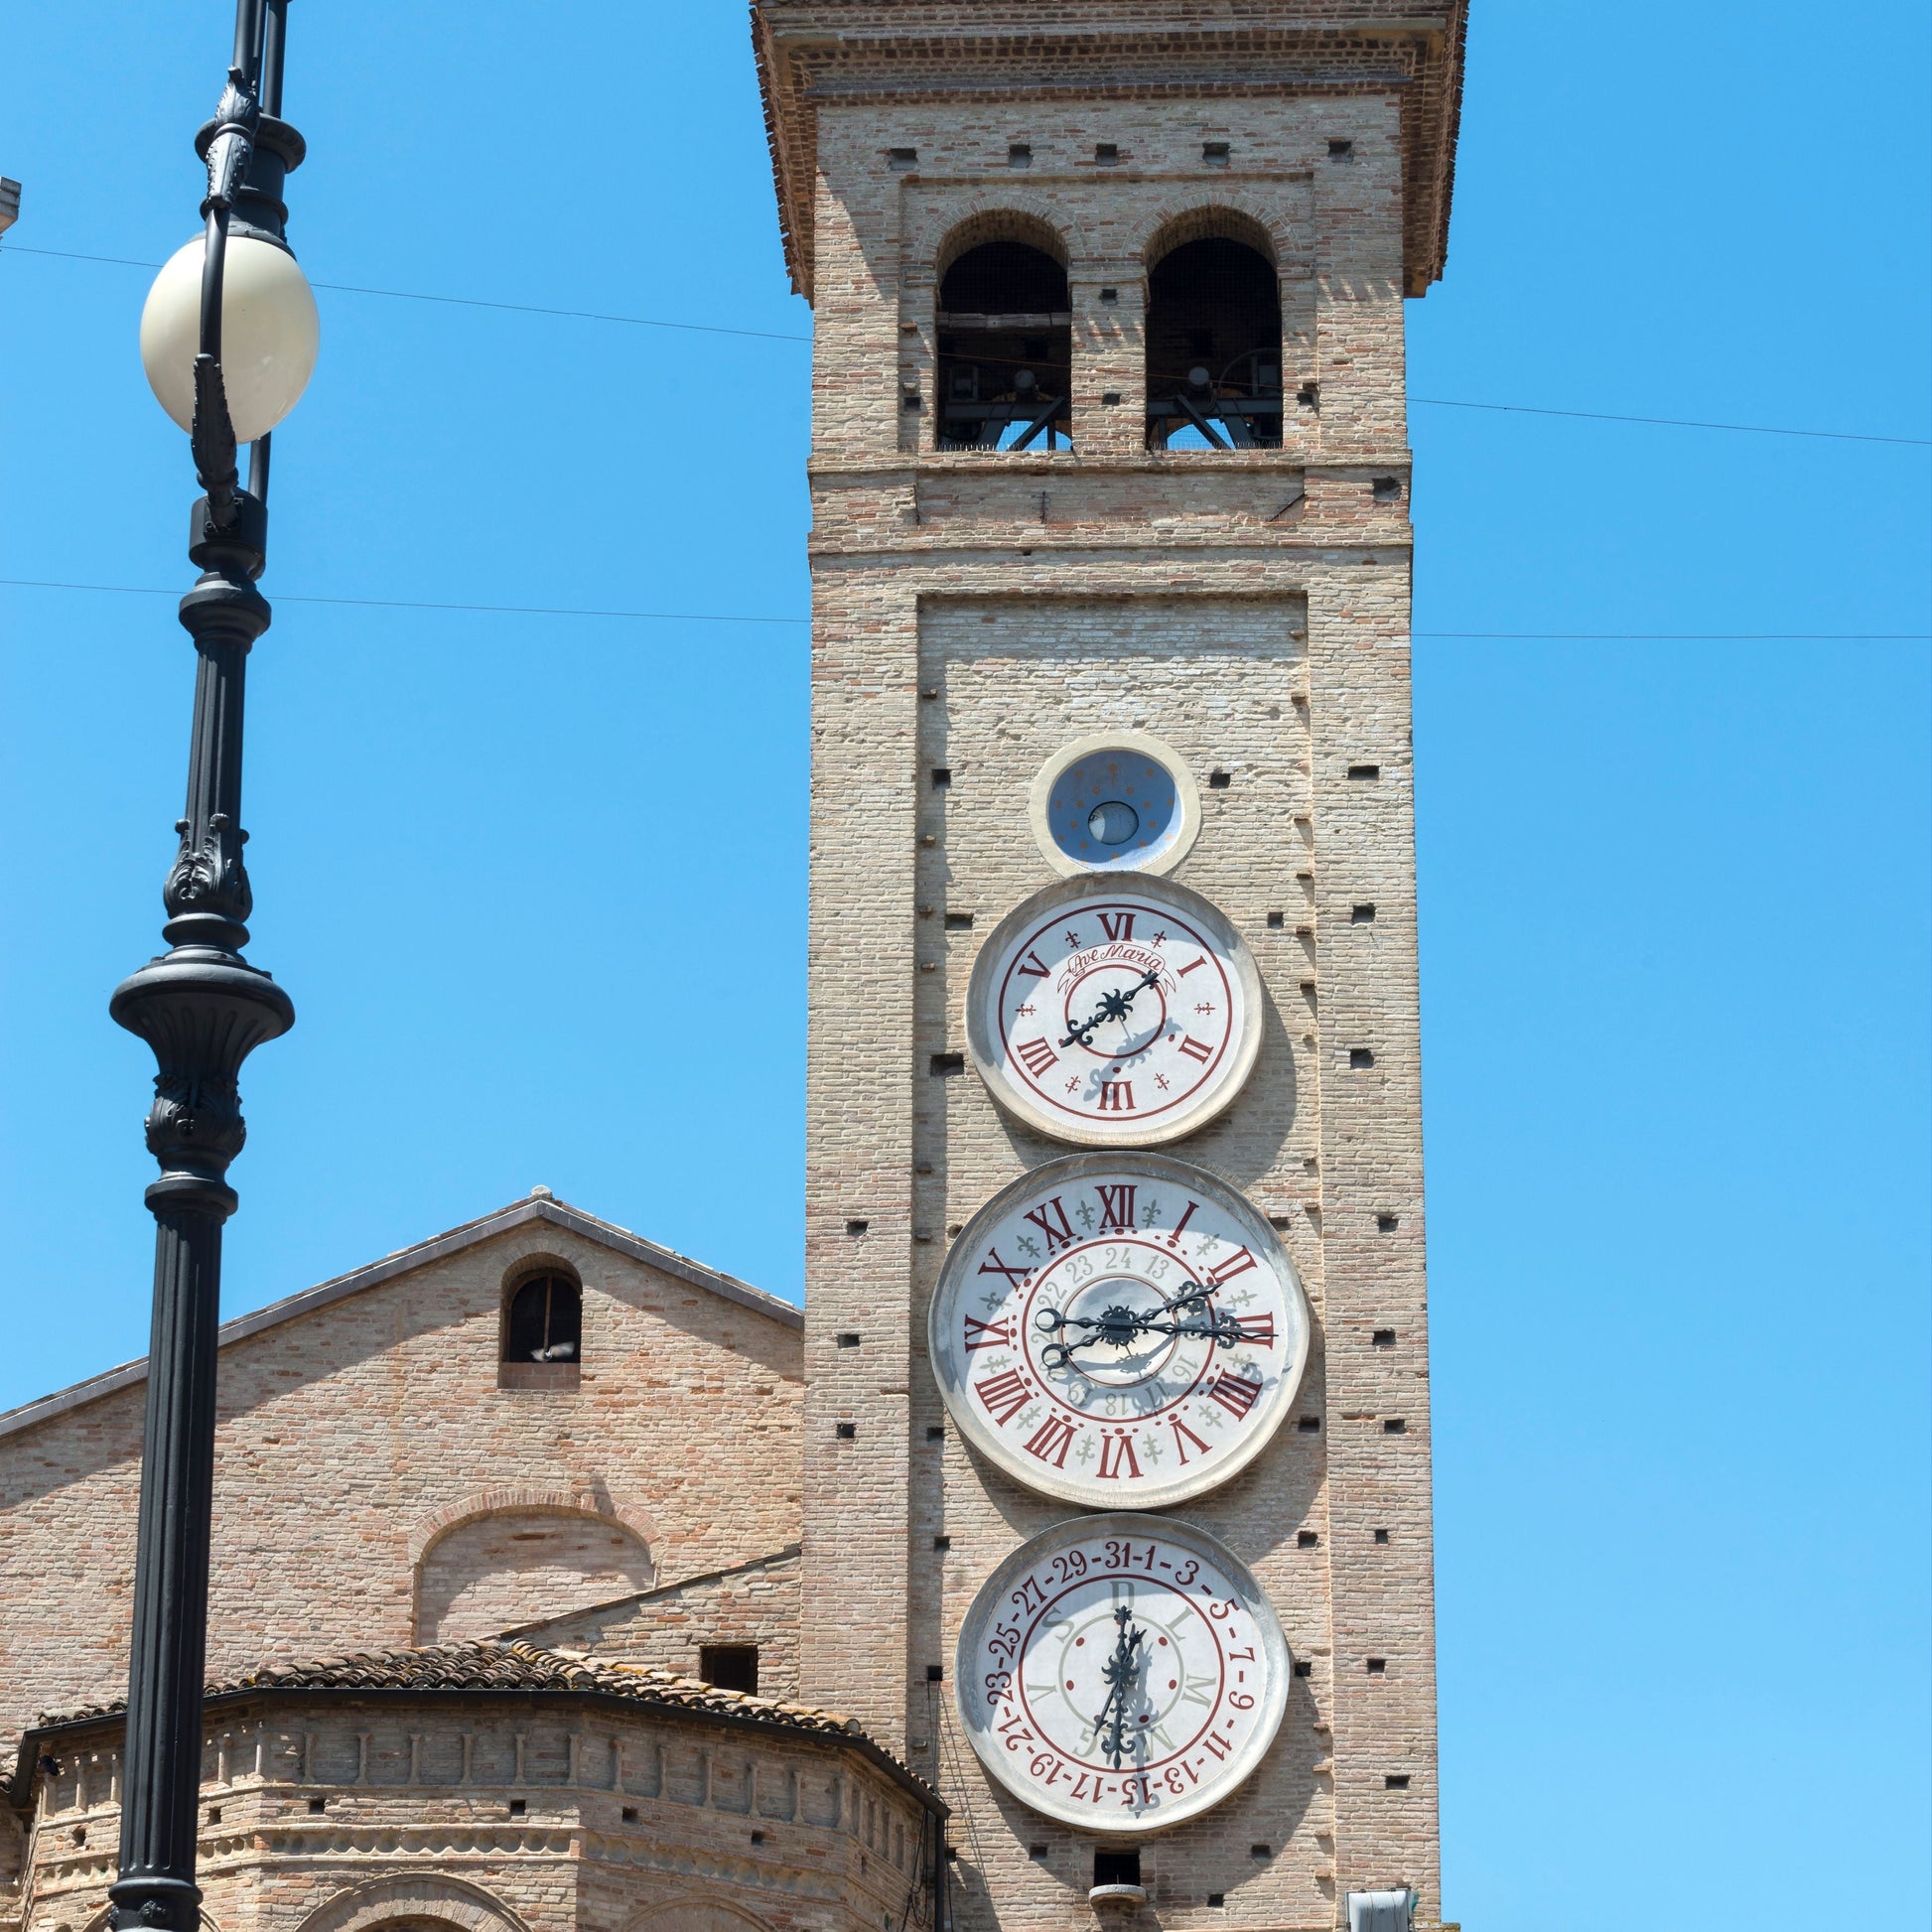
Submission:
POLYGON ((1084 1832, 1117 1837, 1146 1837, 1153 1832, 1165 1832, 1171 1826, 1186 1824, 1188 1820, 1213 1810, 1217 1804, 1225 1804, 1260 1770, 1262 1760, 1275 1748, 1275 1739, 1281 1735, 1281 1725, 1289 1714, 1293 1662, 1293 1650, 1289 1648, 1287 1633, 1281 1629, 1281 1617, 1275 1613, 1275 1605, 1262 1588, 1260 1578, 1252 1569, 1248 1569, 1246 1563, 1242 1563, 1238 1555, 1235 1555, 1233 1549, 1227 1548, 1227 1544, 1221 1542, 1219 1536, 1213 1536, 1198 1522, 1188 1522, 1180 1517, 1151 1517, 1138 1509, 1103 1509, 1080 1517, 1065 1517, 1059 1522, 1047 1524, 1047 1528, 1036 1532, 1016 1549, 1009 1551, 1005 1561, 1001 1561, 985 1582, 980 1584, 972 1602, 966 1605, 966 1613, 960 1617, 958 1636, 952 1644, 952 1708, 958 1714, 960 1729, 966 1733, 966 1741, 974 1748, 974 1756, 978 1756, 991 1777, 1003 1789, 1020 1799, 1028 1810, 1084 1832), (968 1648, 976 1648, 974 1633, 976 1625, 983 1621, 985 1607, 999 1604, 999 1600, 1012 1588, 1014 1578, 1030 1571, 1041 1555, 1051 1553, 1057 1546, 1107 1536, 1119 1536, 1122 1540, 1155 1538, 1169 1544, 1194 1544, 1194 1553, 1206 1557, 1206 1561, 1219 1569, 1221 1575, 1238 1588, 1242 1607, 1254 1619, 1256 1631, 1262 1636, 1262 1648, 1265 1650, 1269 1704, 1267 1716, 1254 1727, 1240 1752, 1229 1758, 1229 1766, 1219 1772, 1215 1785, 1196 1789, 1188 1797, 1180 1799, 1173 1810, 1157 1812, 1153 1816, 1136 1816, 1128 1812, 1126 1806, 1121 1806, 1119 1820, 1103 1814, 1097 1806, 1082 1806, 1080 1810, 1074 1810, 1068 1804, 1063 1810, 1041 1804, 1037 1789, 1028 1789, 1012 1776, 1012 1770, 1018 1766, 1016 1754, 991 1741, 989 1727, 976 1721, 972 1704, 968 1702, 968 1694, 978 1700, 978 1667, 972 1658, 968 1658, 968 1648))

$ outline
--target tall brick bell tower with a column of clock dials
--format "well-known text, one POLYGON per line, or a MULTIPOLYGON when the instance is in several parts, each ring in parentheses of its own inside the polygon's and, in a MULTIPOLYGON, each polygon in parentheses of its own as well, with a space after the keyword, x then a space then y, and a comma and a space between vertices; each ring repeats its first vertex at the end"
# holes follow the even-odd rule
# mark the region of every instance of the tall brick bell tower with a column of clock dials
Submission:
POLYGON ((753 37, 817 317, 804 1694, 939 1785, 962 1926, 1434 1926, 1401 303, 1463 4, 753 37))

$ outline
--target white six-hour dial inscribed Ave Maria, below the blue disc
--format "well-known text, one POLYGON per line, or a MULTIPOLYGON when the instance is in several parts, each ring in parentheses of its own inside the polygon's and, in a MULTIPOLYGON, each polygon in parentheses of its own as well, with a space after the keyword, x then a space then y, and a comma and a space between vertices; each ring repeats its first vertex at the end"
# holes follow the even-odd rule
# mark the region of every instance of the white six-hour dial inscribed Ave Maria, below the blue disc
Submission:
POLYGON ((1049 885, 987 935, 966 1041, 1009 1113, 1084 1146, 1206 1126, 1262 1039, 1262 980, 1227 920, 1165 879, 1049 885))

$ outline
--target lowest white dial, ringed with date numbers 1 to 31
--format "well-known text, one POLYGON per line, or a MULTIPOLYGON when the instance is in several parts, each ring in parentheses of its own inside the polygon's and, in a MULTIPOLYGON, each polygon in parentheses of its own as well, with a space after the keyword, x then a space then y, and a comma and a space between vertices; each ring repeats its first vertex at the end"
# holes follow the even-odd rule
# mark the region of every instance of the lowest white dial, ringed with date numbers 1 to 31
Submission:
POLYGON ((1034 1810, 1148 1832, 1219 1804, 1275 1741, 1289 1646, 1204 1530, 1109 1513, 1022 1544, 960 1629, 960 1719, 1034 1810))

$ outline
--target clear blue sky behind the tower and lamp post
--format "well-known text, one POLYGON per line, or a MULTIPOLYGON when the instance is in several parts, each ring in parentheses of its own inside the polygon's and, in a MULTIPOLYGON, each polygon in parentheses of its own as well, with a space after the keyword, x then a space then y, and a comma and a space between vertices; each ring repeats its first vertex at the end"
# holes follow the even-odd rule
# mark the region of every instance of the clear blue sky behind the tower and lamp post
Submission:
MULTIPOLYGON (((292 14, 317 282, 810 332, 736 0, 292 14)), ((191 234, 226 33, 10 21, 8 578, 189 582, 147 274, 19 249, 191 234)), ((1924 41, 1905 0, 1478 0, 1414 394, 1932 433, 1924 41)), ((808 350, 319 299, 245 813, 299 1020, 249 1066, 228 1308, 533 1182, 796 1294, 804 632, 748 620, 806 605, 808 350)), ((1932 630, 1928 452, 1412 439, 1449 1915, 1922 1920, 1932 692, 1924 641, 1843 639, 1932 630), (1445 636, 1488 632, 1532 636, 1445 636)), ((145 1349, 106 993, 156 945, 189 651, 168 597, 0 585, 0 676, 6 1405, 145 1349)))

